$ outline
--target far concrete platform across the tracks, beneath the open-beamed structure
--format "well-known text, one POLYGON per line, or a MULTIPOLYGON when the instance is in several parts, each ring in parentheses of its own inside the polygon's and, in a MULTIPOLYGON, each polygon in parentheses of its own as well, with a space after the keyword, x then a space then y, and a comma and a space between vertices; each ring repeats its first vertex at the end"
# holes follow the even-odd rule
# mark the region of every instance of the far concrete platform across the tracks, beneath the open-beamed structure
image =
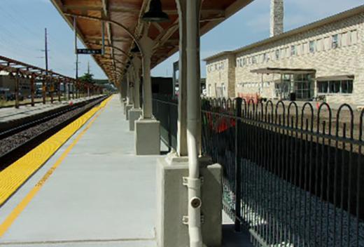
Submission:
POLYGON ((23 105, 20 106, 19 109, 15 109, 15 107, 0 108, 0 123, 15 121, 32 115, 42 114, 44 112, 48 112, 59 107, 64 107, 65 105, 69 104, 69 101, 83 102, 85 100, 90 100, 97 97, 99 97, 99 95, 92 96, 90 98, 79 98, 76 100, 66 100, 62 102, 55 101, 53 104, 50 104, 50 102, 47 102, 47 104, 45 105, 43 105, 43 103, 37 103, 34 107, 31 107, 31 105, 23 105))

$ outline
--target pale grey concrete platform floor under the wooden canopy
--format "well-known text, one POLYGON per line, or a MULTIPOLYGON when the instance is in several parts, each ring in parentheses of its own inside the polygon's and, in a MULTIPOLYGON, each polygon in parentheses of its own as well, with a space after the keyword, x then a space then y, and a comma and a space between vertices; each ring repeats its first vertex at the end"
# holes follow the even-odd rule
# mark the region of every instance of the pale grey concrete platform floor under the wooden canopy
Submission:
MULTIPOLYGON (((3 235, 0 246, 156 246, 157 156, 134 155, 134 133, 122 111, 114 96, 3 235)), ((0 222, 76 136, 0 208, 0 222)))

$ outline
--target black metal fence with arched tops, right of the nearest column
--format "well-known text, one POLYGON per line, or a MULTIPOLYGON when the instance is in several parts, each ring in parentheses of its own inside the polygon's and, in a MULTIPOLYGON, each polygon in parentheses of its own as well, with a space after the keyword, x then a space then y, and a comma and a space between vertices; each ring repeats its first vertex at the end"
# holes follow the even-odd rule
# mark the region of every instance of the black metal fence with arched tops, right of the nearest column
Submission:
POLYGON ((364 246, 363 120, 349 105, 203 100, 202 150, 236 229, 256 246, 364 246))

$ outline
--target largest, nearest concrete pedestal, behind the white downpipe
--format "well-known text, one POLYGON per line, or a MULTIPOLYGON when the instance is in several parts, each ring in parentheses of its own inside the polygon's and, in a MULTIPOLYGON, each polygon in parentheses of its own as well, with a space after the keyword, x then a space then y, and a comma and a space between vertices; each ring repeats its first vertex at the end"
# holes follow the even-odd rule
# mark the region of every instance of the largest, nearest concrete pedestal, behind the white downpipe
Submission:
MULTIPOLYGON (((202 183, 202 239, 205 246, 221 246, 222 241, 222 168, 205 160, 200 162, 202 183)), ((167 157, 157 163, 158 247, 189 246, 188 225, 182 218, 187 213, 188 189, 182 178, 188 176, 188 159, 167 157)))

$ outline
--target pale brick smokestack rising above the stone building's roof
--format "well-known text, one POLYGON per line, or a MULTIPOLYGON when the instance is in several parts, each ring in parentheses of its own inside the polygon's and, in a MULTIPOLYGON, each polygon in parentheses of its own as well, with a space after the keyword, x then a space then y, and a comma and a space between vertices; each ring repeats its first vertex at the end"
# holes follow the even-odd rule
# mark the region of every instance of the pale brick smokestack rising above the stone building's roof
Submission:
POLYGON ((284 8, 283 0, 271 0, 270 2, 270 36, 283 33, 284 8))

